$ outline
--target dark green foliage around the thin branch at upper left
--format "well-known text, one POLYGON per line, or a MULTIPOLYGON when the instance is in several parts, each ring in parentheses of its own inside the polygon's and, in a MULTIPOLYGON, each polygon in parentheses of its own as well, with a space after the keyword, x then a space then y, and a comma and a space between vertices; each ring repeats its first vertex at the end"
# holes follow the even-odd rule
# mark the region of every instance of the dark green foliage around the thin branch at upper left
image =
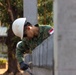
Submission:
MULTIPOLYGON (((12 9, 14 19, 17 17, 23 16, 23 1, 22 0, 9 0, 10 1, 10 10, 12 9)), ((0 0, 0 21, 4 26, 12 24, 10 15, 8 12, 9 5, 7 0, 0 0)))

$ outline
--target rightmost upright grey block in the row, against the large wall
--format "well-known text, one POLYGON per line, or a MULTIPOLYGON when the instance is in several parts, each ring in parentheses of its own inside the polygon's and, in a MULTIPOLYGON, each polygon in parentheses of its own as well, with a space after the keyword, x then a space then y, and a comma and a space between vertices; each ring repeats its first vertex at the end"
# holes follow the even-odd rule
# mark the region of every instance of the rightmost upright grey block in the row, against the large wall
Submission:
POLYGON ((47 66, 51 68, 53 66, 53 60, 54 60, 54 43, 53 43, 53 35, 51 35, 48 39, 47 44, 47 66))

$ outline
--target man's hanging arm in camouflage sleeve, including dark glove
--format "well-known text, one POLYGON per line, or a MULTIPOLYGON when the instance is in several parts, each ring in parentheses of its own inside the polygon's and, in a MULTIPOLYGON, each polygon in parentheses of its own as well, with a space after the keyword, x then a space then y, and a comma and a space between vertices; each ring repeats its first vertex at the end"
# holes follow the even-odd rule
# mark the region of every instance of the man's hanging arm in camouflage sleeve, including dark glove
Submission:
POLYGON ((29 65, 24 63, 24 61, 22 59, 23 54, 26 51, 26 48, 24 48, 24 45, 23 45, 22 41, 17 43, 17 46, 16 46, 16 57, 17 57, 17 60, 18 60, 18 62, 20 64, 20 69, 21 70, 26 70, 29 67, 29 65))

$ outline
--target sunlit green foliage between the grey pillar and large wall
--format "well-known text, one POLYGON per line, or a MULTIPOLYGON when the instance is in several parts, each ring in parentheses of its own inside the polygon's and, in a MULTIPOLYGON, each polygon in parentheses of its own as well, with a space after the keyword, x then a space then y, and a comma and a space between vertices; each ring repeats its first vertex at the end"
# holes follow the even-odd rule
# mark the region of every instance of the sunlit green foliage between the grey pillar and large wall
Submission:
POLYGON ((39 24, 53 25, 53 0, 38 0, 39 24))

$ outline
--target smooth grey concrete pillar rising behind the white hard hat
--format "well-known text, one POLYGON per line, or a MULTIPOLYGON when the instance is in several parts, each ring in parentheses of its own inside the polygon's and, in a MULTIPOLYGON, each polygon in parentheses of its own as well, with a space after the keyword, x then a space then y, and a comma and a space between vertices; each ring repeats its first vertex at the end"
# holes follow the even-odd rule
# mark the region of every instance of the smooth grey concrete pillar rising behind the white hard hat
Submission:
POLYGON ((31 24, 37 24, 37 0, 23 0, 24 17, 31 24))

